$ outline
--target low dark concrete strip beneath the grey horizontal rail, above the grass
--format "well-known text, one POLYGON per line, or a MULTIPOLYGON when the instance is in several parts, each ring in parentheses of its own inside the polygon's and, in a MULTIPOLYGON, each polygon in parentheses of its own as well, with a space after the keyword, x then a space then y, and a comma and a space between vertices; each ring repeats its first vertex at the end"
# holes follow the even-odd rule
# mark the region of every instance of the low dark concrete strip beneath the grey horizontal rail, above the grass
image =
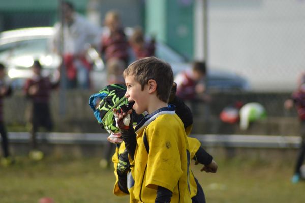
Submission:
MULTIPOLYGON (((39 149, 46 156, 54 157, 104 157, 105 144, 39 144, 39 149)), ((296 157, 296 148, 231 148, 231 147, 206 147, 204 149, 212 154, 216 161, 219 159, 236 158, 243 160, 256 160, 271 163, 287 164, 292 162, 291 157, 296 157)), ((28 143, 11 143, 11 153, 14 156, 26 156, 30 150, 28 143)), ((114 153, 114 152, 113 152, 114 153)), ((1 154, 1 152, 0 152, 1 154)), ((292 163, 291 163, 292 164, 292 163)))

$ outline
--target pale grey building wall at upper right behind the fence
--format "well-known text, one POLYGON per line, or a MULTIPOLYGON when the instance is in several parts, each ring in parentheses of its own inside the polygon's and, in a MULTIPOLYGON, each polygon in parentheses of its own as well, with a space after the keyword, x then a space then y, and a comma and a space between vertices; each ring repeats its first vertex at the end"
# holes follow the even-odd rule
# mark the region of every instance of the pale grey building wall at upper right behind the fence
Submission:
POLYGON ((304 9, 302 0, 208 1, 209 64, 253 91, 292 91, 305 70, 304 9))

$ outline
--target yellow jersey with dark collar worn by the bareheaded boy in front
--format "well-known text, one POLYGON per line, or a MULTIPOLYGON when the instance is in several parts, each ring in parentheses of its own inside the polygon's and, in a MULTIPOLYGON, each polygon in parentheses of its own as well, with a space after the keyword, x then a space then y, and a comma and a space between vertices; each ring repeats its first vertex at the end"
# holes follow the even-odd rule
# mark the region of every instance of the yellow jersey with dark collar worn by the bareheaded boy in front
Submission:
POLYGON ((133 195, 139 202, 155 202, 157 187, 172 192, 171 202, 192 202, 190 153, 184 125, 174 107, 145 116, 135 128, 137 147, 131 165, 135 180, 133 195), (146 136, 149 154, 143 142, 146 136))

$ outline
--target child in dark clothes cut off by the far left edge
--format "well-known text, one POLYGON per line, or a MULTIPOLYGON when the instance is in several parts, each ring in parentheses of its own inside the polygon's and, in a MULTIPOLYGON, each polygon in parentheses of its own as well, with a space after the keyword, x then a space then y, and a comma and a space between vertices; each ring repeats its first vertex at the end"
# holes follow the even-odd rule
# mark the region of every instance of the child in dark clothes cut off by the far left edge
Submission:
POLYGON ((7 136, 7 131, 4 125, 4 116, 3 116, 3 98, 11 95, 12 88, 5 81, 5 67, 0 63, 0 135, 1 135, 1 146, 3 152, 3 158, 1 159, 2 165, 10 165, 13 160, 10 158, 9 153, 9 140, 7 136))

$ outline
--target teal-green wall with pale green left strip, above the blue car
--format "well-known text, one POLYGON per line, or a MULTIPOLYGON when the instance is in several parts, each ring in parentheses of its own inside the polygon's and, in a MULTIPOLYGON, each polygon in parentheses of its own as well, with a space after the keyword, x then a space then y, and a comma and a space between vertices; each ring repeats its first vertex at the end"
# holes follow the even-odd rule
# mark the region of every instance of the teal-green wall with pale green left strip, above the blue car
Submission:
POLYGON ((147 0, 146 33, 193 59, 193 1, 147 0))

